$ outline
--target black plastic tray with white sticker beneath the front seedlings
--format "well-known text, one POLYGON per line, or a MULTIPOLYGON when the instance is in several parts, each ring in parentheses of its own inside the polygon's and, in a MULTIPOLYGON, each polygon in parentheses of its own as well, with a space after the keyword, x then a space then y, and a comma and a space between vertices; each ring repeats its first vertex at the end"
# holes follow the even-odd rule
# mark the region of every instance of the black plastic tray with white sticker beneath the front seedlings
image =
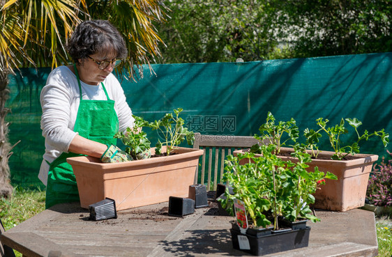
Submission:
POLYGON ((230 233, 232 234, 234 249, 245 251, 255 256, 262 256, 308 247, 310 227, 259 236, 243 235, 235 229, 230 229, 230 233))

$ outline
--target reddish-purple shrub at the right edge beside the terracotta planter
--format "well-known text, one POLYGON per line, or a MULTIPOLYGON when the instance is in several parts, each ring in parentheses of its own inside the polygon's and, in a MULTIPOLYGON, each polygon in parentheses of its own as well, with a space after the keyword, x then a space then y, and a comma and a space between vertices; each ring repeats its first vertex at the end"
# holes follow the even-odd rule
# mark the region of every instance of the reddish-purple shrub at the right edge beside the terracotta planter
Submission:
POLYGON ((381 164, 375 164, 370 174, 366 198, 374 205, 392 206, 392 159, 386 161, 382 157, 381 164))

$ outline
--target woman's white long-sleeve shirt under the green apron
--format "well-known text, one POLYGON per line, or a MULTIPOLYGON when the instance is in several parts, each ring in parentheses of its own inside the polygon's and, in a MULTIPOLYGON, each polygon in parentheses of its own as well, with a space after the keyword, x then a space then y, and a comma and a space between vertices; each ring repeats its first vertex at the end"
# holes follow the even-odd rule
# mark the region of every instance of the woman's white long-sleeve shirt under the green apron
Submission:
MULTIPOLYGON (((82 99, 107 100, 101 84, 91 86, 83 81, 80 81, 80 84, 82 99)), ((126 102, 119 81, 113 74, 110 74, 103 84, 110 100, 114 100, 114 109, 119 118, 119 131, 133 127, 132 111, 126 102)), ((49 172, 47 162, 53 162, 61 153, 68 153, 70 142, 77 135, 73 128, 80 104, 80 91, 77 78, 68 67, 59 66, 50 72, 46 85, 40 93, 40 103, 43 110, 40 127, 45 137, 45 154, 38 178, 44 185, 47 185, 47 173, 49 172)))

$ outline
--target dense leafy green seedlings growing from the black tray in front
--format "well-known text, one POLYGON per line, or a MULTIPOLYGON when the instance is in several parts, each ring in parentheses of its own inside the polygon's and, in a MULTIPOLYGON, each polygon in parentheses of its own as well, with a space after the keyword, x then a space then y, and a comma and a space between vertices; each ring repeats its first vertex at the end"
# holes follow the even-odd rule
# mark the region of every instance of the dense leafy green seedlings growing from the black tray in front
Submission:
POLYGON ((262 155, 240 153, 227 157, 223 180, 233 187, 234 194, 225 192, 220 201, 224 208, 231 210, 229 204, 237 198, 246 206, 249 220, 253 226, 266 227, 273 223, 278 229, 278 218, 289 221, 310 219, 319 221, 311 214, 309 205, 315 203, 312 196, 325 179, 337 179, 329 172, 315 168, 308 172, 310 155, 302 148, 296 148, 298 162, 283 161, 276 154, 273 144, 260 146, 262 155))

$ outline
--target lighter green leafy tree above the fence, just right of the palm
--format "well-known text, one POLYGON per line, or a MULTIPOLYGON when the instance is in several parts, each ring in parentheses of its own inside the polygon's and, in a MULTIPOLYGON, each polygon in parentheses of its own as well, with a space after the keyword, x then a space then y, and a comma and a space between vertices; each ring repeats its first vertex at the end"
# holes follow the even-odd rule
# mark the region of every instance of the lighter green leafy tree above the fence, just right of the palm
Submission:
POLYGON ((268 59, 277 44, 269 1, 167 0, 171 19, 158 24, 163 63, 268 59))

